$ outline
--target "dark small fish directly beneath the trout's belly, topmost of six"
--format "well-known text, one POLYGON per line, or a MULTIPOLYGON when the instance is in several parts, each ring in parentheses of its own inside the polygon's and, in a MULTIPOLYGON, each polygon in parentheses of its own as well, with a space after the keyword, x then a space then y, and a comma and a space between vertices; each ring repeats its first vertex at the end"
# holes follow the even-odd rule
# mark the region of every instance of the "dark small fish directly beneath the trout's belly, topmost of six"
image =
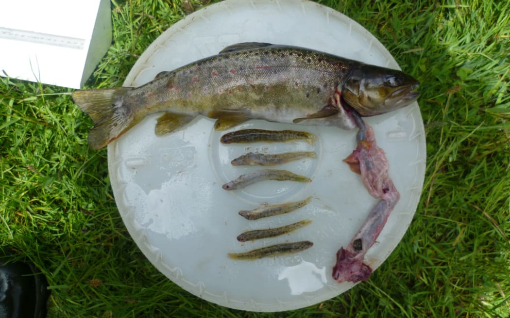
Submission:
POLYGON ((306 131, 295 130, 242 129, 224 134, 220 141, 221 143, 250 143, 300 139, 312 144, 315 142, 315 135, 306 131))

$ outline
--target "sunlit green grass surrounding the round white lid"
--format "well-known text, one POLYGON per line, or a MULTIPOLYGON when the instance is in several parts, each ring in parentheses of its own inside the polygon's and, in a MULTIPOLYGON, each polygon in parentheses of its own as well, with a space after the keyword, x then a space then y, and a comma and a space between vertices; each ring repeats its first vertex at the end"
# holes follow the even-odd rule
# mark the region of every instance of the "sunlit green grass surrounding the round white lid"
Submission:
MULTIPOLYGON (((87 86, 120 85, 190 0, 112 0, 113 43, 87 86)), ((509 317, 510 3, 319 1, 361 23, 422 82, 425 184, 402 242, 367 282, 321 304, 257 314, 203 301, 127 233, 106 150, 59 87, 0 78, 0 248, 47 276, 52 317, 509 317)), ((3 48, 6 49, 6 48, 3 48)))

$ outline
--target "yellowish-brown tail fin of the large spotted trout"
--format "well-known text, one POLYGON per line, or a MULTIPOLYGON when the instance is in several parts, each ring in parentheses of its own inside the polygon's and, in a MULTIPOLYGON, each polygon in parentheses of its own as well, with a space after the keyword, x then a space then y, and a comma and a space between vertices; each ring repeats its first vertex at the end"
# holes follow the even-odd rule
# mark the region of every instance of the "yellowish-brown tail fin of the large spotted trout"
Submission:
POLYGON ((124 104, 126 93, 132 88, 112 88, 75 91, 71 94, 74 102, 94 122, 88 142, 92 149, 101 149, 117 139, 133 123, 133 111, 124 104))

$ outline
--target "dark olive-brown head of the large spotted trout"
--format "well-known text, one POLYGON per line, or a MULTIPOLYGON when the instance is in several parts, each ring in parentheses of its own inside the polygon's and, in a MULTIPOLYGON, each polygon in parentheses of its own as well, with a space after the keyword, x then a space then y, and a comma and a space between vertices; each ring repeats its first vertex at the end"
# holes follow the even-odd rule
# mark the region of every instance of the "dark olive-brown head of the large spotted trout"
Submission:
POLYGON ((342 86, 342 98, 362 116, 386 113, 414 102, 420 82, 401 71, 361 65, 342 86))

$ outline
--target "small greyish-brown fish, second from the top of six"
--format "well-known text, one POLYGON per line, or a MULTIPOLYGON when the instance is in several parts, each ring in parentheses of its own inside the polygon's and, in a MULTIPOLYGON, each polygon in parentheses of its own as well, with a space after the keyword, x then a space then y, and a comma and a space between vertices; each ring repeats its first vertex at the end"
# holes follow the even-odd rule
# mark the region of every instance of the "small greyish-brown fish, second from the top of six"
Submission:
POLYGON ((252 152, 239 156, 230 163, 233 166, 241 165, 261 165, 272 166, 296 161, 303 158, 315 158, 317 155, 313 151, 287 152, 282 154, 266 155, 254 154, 252 152))

